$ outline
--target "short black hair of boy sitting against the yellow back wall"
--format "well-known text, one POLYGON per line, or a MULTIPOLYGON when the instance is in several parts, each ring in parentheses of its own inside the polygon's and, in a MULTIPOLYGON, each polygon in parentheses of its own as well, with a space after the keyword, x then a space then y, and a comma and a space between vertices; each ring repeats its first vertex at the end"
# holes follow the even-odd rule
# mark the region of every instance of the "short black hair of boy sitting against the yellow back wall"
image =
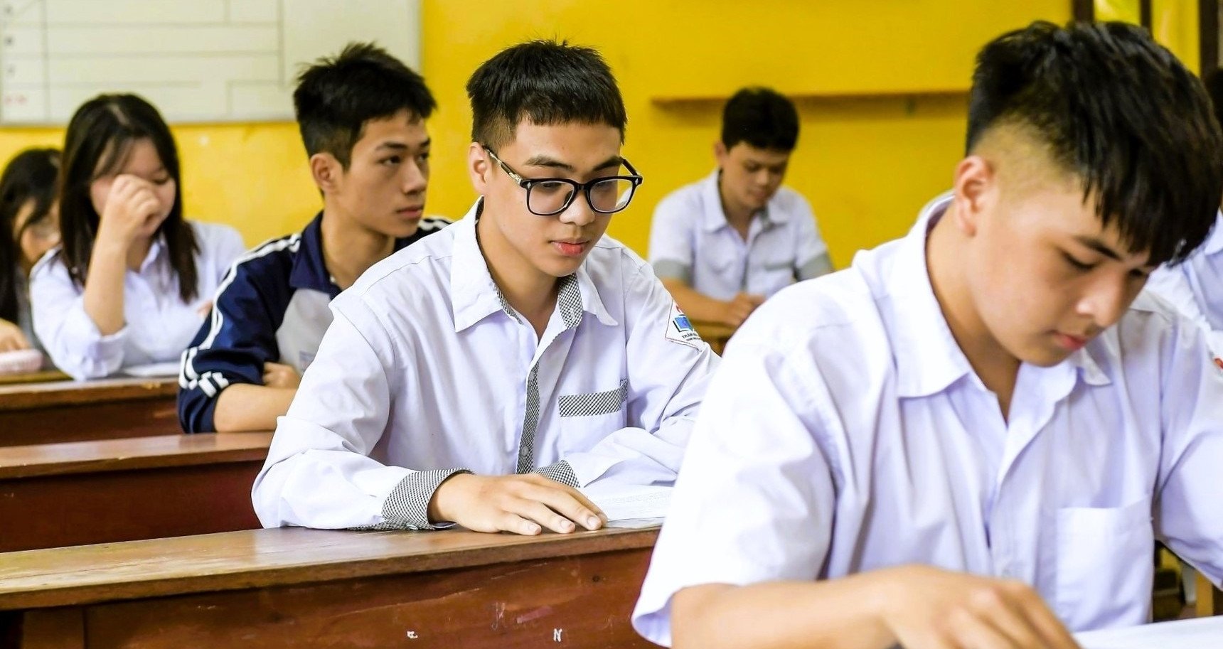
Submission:
POLYGON ((744 88, 722 109, 722 144, 746 142, 757 149, 793 152, 799 143, 794 101, 769 88, 744 88))

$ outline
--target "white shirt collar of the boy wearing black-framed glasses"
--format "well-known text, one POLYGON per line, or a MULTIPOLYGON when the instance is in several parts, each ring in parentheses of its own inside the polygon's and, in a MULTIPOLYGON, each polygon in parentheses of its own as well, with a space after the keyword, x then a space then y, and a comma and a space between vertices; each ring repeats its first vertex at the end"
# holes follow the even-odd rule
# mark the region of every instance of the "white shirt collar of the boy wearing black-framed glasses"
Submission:
MULTIPOLYGON (((479 242, 476 240, 476 222, 479 221, 483 209, 484 199, 479 198, 461 220, 448 227, 454 231, 455 237, 450 265, 450 301, 456 332, 497 312, 519 320, 517 313, 493 281, 488 263, 484 262, 479 242)), ((560 280, 556 308, 560 309, 565 329, 577 326, 583 312, 594 315, 608 326, 619 324, 599 298, 599 292, 586 269, 588 263, 589 258, 582 262, 576 273, 560 280)))

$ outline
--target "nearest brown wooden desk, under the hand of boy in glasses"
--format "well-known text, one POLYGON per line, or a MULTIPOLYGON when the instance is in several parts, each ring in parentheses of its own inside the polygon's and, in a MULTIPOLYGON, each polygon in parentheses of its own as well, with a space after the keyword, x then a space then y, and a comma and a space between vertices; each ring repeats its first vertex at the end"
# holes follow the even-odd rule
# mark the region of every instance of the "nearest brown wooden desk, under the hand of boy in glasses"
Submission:
POLYGON ((651 648, 656 530, 260 529, 0 561, 0 649, 651 648))

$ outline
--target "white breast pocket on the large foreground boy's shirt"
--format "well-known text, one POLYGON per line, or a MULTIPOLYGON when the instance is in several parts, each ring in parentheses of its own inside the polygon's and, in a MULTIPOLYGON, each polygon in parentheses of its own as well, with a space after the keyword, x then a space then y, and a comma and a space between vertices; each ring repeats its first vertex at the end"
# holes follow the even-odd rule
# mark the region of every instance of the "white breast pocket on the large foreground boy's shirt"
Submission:
POLYGON ((1151 499, 1057 511, 1055 609, 1071 629, 1140 623, 1151 604, 1151 499))

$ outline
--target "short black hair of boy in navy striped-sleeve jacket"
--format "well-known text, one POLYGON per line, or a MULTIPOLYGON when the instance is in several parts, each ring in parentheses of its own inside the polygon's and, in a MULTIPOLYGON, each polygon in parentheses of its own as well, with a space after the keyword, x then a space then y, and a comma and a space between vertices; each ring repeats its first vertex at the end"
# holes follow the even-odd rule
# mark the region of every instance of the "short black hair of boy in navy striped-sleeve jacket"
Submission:
POLYGON ((294 90, 306 154, 330 153, 345 169, 366 122, 404 110, 427 120, 437 108, 424 77, 373 43, 349 43, 319 59, 294 90))

